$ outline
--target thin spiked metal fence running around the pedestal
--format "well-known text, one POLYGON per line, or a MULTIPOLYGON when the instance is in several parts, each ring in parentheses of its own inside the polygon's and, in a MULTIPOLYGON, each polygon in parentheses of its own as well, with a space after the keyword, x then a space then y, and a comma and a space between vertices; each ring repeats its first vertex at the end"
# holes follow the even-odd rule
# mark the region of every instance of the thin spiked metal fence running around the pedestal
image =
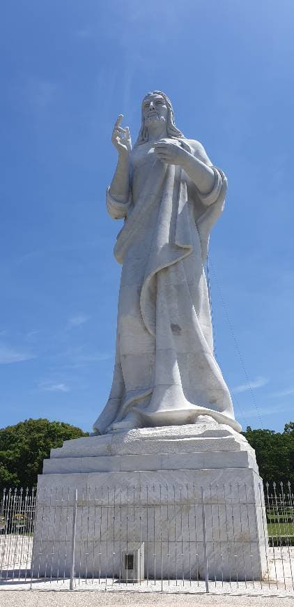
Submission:
POLYGON ((0 585, 294 591, 291 485, 3 491, 0 585))

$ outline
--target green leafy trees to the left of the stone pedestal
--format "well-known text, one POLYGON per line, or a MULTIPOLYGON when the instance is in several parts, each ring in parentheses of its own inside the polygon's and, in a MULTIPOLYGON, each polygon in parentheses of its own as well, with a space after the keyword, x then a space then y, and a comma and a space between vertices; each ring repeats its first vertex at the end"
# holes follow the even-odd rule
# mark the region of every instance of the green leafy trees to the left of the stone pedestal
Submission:
POLYGON ((0 489, 33 487, 50 449, 62 447, 64 440, 87 436, 80 428, 63 421, 26 419, 0 430, 0 489))

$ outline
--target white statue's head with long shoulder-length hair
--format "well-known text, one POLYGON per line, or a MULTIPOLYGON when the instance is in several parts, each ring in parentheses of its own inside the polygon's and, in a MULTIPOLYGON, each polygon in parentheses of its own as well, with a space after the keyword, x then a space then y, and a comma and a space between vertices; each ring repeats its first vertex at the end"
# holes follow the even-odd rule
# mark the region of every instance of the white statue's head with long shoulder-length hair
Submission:
POLYGON ((167 126, 167 137, 184 137, 183 133, 176 127, 173 117, 173 106, 169 97, 162 91, 147 93, 142 101, 142 121, 138 139, 135 145, 148 141, 148 128, 152 128, 155 121, 165 122, 167 126))

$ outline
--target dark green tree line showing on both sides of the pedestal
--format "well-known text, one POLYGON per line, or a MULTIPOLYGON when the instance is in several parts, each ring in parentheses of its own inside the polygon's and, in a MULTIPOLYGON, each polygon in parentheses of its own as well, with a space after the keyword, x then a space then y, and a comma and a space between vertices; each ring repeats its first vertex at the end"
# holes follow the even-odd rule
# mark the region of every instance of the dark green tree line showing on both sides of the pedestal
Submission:
MULTIPOLYGON (((291 481, 294 486, 294 422, 284 432, 252 430, 243 435, 256 451, 259 472, 264 481, 291 481)), ((64 440, 88 436, 80 428, 63 421, 26 419, 0 430, 0 490, 4 487, 33 487, 42 474, 43 460, 50 450, 62 447, 64 440)))

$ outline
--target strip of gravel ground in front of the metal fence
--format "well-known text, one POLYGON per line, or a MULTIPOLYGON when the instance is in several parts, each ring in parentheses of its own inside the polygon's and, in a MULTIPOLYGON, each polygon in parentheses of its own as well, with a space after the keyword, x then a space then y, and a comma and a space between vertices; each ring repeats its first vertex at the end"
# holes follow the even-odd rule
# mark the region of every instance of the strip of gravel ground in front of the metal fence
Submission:
POLYGON ((1 607, 111 607, 126 606, 213 606, 225 607, 293 607, 293 597, 249 597, 210 594, 151 594, 138 592, 51 592, 51 591, 13 591, 0 592, 1 607))

